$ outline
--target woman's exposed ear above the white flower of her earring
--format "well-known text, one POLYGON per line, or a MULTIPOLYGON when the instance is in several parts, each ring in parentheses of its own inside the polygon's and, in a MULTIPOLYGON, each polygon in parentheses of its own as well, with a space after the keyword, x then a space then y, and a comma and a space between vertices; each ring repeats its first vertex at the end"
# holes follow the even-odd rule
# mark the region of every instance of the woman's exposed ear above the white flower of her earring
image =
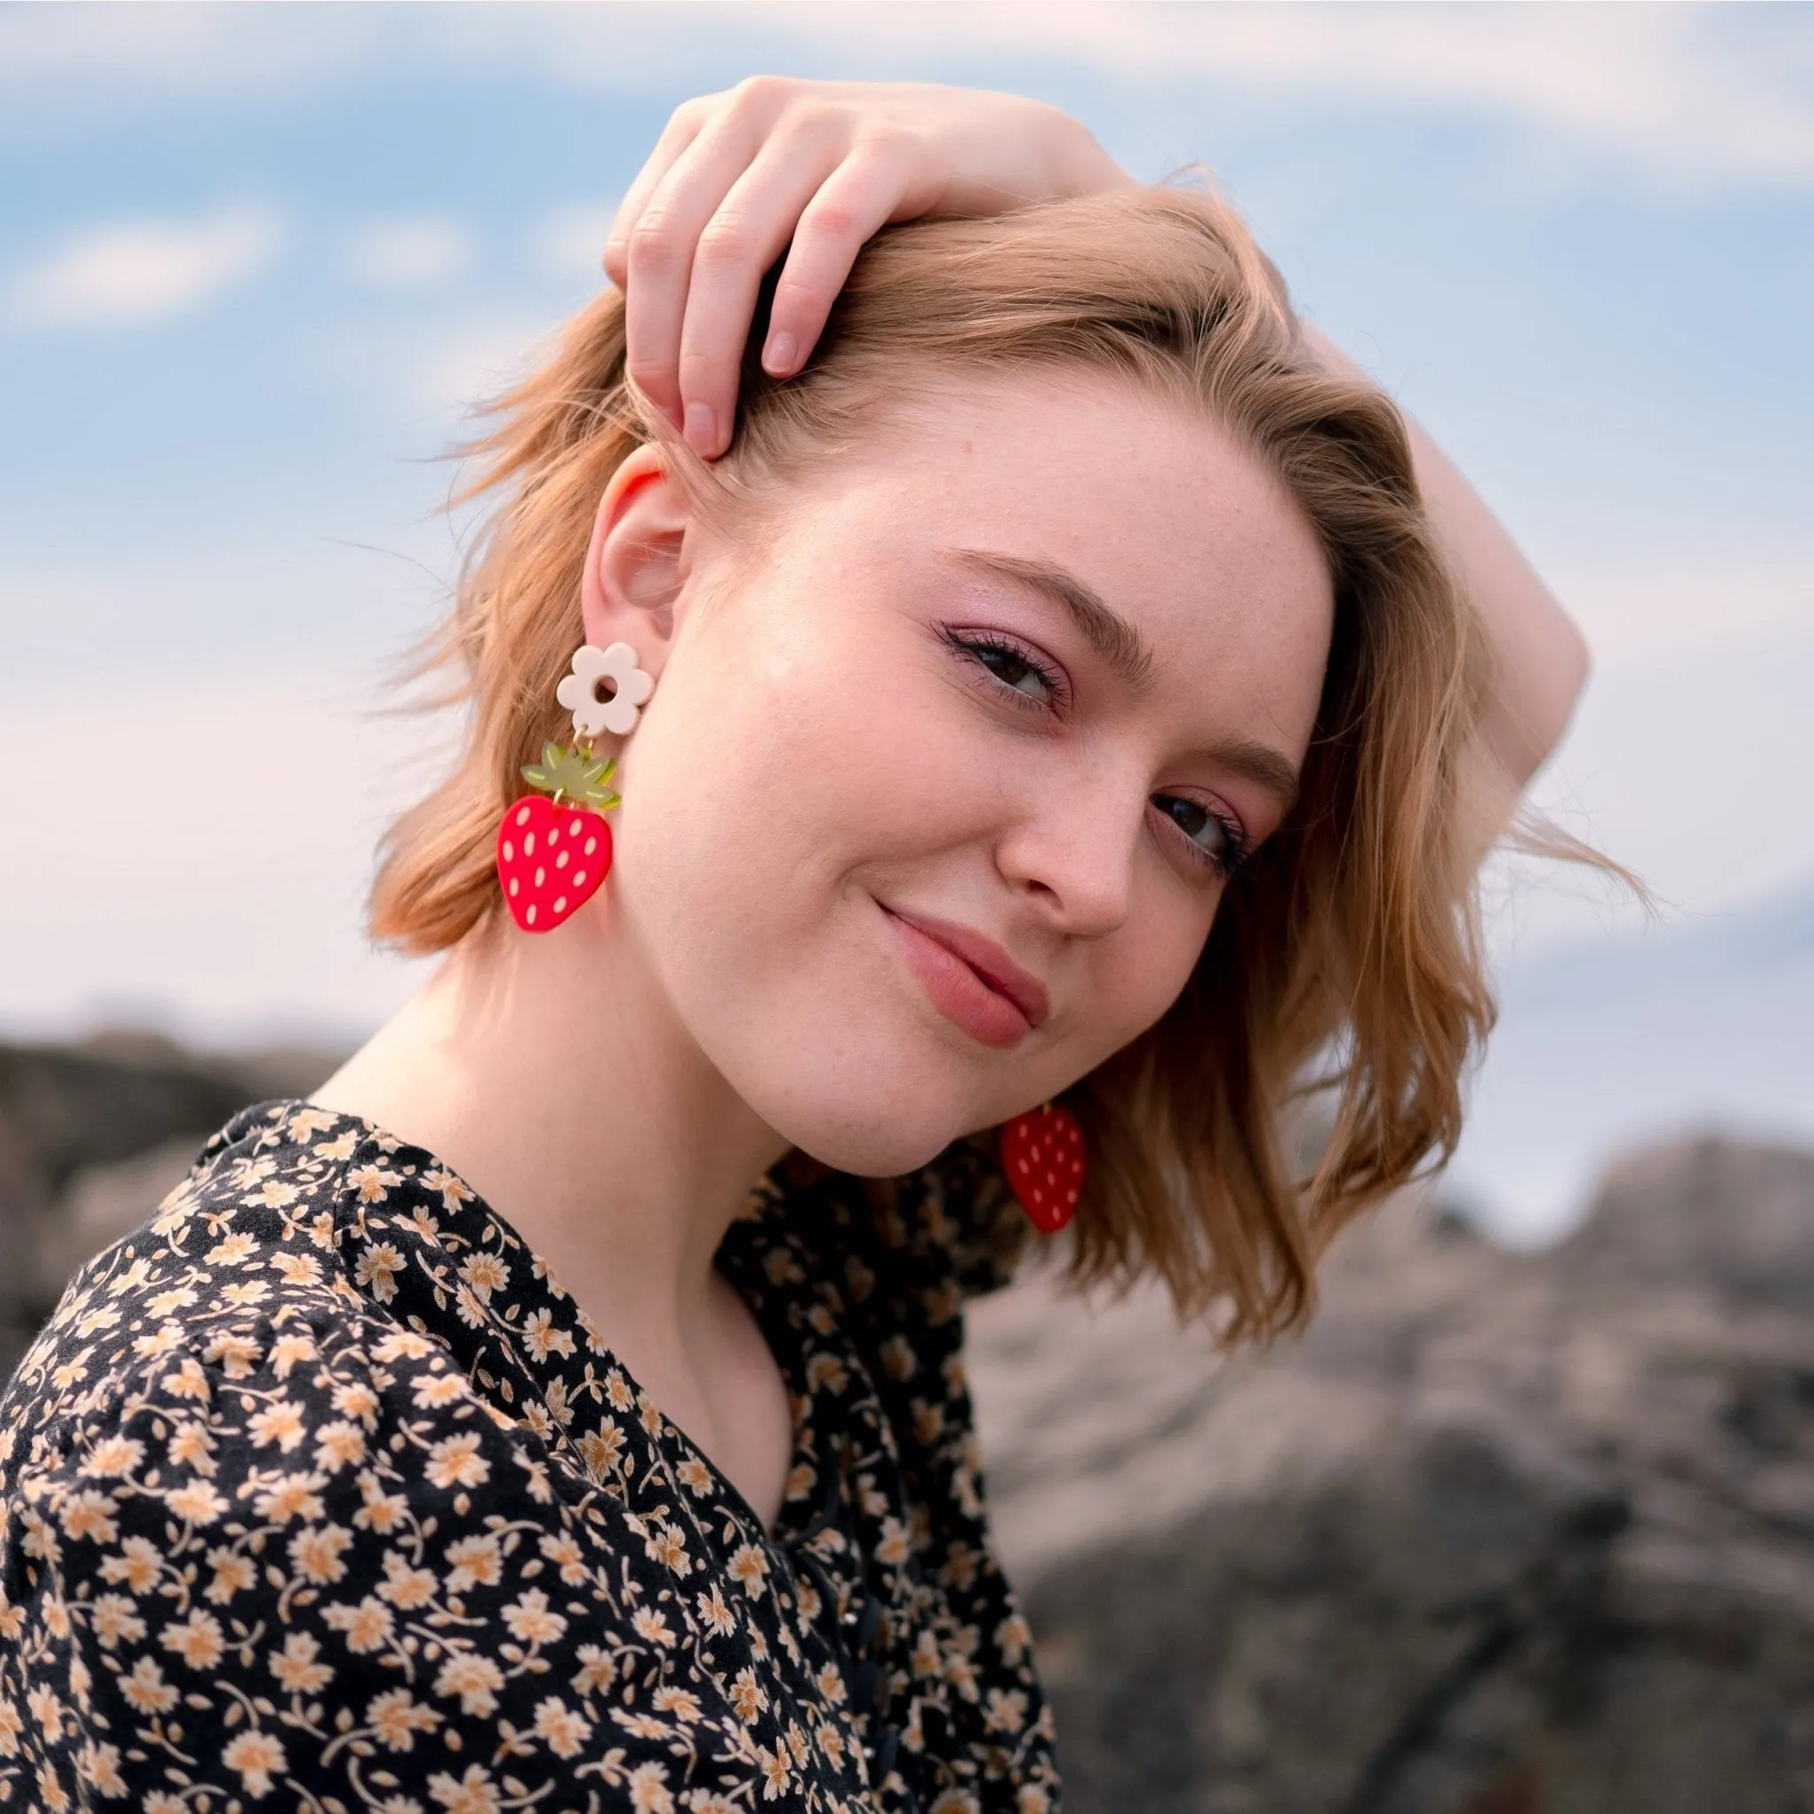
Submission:
POLYGON ((675 599, 686 584, 686 493, 653 446, 611 473, 599 499, 580 575, 580 619, 593 648, 628 642, 637 666, 658 675, 675 633, 675 599))

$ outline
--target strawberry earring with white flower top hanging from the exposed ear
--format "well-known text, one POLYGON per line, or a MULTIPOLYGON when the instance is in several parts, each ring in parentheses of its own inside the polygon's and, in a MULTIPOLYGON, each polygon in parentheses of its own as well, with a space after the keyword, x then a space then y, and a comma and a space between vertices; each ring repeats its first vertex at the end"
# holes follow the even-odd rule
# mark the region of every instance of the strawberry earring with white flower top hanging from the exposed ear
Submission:
POLYGON ((555 688, 573 713, 573 747, 542 744, 542 760, 522 769, 537 793, 512 800, 497 827, 497 880, 524 932, 551 932, 599 892, 611 867, 611 827, 602 814, 619 795, 610 785, 617 758, 593 756, 591 744, 604 733, 628 736, 653 691, 628 642, 604 649, 588 642, 555 688), (600 697, 604 682, 611 689, 600 697))

